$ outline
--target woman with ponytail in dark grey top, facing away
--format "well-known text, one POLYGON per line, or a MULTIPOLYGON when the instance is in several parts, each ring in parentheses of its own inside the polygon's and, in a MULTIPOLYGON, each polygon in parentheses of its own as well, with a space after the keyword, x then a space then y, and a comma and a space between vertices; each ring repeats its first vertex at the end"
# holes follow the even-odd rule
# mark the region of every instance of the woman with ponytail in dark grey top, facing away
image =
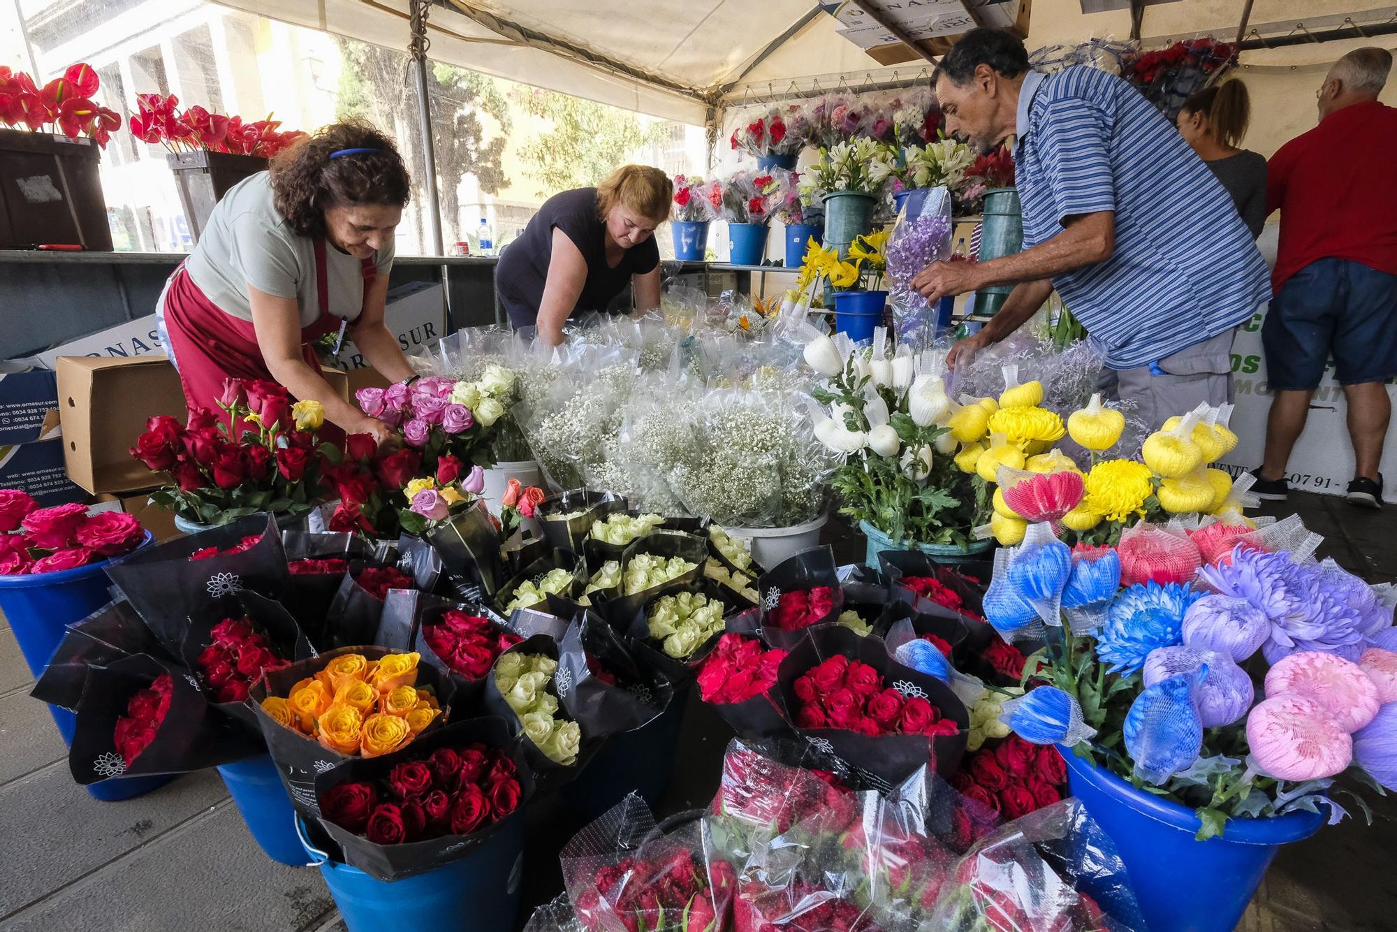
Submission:
POLYGON ((1185 141, 1232 196, 1236 212, 1256 239, 1266 224, 1266 156, 1238 148, 1250 116, 1246 85, 1227 81, 1185 101, 1176 122, 1185 141))

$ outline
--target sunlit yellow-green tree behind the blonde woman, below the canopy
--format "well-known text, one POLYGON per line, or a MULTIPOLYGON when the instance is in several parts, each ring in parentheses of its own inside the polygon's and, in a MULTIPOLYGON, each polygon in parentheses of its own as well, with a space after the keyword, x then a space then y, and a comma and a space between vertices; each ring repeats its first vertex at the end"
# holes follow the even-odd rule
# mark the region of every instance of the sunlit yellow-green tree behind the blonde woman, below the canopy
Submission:
POLYGON ((539 197, 597 184, 665 131, 664 123, 641 123, 630 110, 553 91, 521 87, 514 99, 552 123, 520 148, 524 175, 538 182, 539 197))

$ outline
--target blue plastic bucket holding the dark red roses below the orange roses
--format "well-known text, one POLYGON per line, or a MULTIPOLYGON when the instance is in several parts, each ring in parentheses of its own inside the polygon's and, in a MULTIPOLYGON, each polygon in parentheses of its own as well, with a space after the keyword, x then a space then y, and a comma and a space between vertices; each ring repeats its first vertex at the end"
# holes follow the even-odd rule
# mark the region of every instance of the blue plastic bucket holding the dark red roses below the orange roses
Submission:
POLYGON ((349 932, 460 929, 511 932, 524 879, 524 810, 514 812, 482 845, 436 871, 395 883, 376 880, 316 848, 298 819, 310 864, 330 887, 349 932))

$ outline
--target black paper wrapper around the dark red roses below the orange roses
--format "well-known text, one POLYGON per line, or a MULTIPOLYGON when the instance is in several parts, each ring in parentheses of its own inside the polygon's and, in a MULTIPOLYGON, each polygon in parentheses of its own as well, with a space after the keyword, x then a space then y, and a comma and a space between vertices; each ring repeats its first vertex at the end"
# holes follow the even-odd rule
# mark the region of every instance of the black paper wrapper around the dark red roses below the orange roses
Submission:
POLYGON ((467 718, 453 722, 430 734, 420 735, 402 750, 381 757, 352 759, 316 777, 316 796, 323 796, 331 788, 342 782, 387 780, 388 774, 401 763, 409 760, 426 760, 439 748, 460 748, 471 743, 482 743, 506 752, 517 767, 520 782, 520 805, 513 813, 500 822, 493 822, 479 831, 468 836, 446 834, 440 838, 426 841, 409 841, 405 844, 374 844, 363 836, 358 836, 324 817, 317 817, 321 831, 324 831, 339 848, 342 864, 359 868, 376 880, 393 883, 427 871, 434 871, 453 861, 460 861, 475 852, 475 850, 493 838, 496 833, 509 826, 513 820, 524 817, 524 809, 534 796, 534 773, 524 759, 522 736, 515 736, 509 724, 502 718, 467 718))

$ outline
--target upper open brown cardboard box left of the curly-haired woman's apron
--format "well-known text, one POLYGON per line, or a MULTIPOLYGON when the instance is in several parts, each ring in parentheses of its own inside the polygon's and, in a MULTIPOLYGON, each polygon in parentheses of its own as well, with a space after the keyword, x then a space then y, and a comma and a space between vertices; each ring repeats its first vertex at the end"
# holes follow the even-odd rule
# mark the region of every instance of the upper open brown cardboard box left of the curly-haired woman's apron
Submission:
POLYGON ((129 450, 155 415, 184 419, 179 373, 165 356, 60 356, 59 418, 68 478, 88 492, 133 492, 161 476, 129 450))

